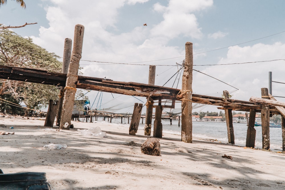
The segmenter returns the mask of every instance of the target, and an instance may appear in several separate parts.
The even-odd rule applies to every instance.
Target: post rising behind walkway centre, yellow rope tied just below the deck
[[[149,66],[148,84],[154,85],[155,68],[156,68],[155,65]],[[150,136],[151,123],[152,123],[153,99],[151,97],[148,97],[145,105],[146,105],[146,113],[145,113],[144,135]]]

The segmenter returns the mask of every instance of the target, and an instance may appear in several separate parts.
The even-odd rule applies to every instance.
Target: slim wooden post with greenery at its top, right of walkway
[[[229,99],[228,91],[223,91],[223,95],[226,99]],[[233,132],[233,114],[231,109],[225,109],[225,118],[227,123],[228,141],[231,144],[235,144],[235,135]]]

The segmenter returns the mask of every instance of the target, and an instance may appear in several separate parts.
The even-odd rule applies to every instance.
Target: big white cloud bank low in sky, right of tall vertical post
[[[285,44],[255,44],[253,46],[230,47],[227,57],[221,58],[218,64],[232,64],[256,62],[266,60],[284,59]],[[284,60],[272,62],[258,62],[235,65],[217,65],[207,68],[195,68],[203,73],[213,76],[239,90],[234,92],[234,99],[249,101],[251,96],[261,96],[260,89],[268,88],[268,72],[272,71],[272,78],[282,80],[285,72]],[[193,90],[195,93],[222,93],[223,90],[234,91],[235,88],[217,81],[201,73],[193,73]],[[273,80],[274,80],[273,79]],[[281,82],[284,82],[281,81]],[[272,87],[273,94],[284,94],[284,88]]]

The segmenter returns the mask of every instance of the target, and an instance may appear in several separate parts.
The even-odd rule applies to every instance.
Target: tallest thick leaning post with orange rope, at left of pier
[[[76,24],[74,30],[73,50],[66,76],[66,85],[64,90],[64,98],[62,103],[62,113],[60,119],[60,129],[69,130],[71,124],[71,115],[74,105],[74,97],[76,93],[76,82],[78,81],[79,61],[82,54],[84,26]]]

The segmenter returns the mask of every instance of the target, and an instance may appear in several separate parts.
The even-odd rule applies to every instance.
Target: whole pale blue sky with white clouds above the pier
[[[167,59],[140,63],[171,65],[156,67],[156,85],[163,85],[177,71],[172,65],[183,61],[187,41],[193,43],[194,69],[239,89],[235,91],[229,85],[194,71],[194,93],[221,97],[223,90],[228,90],[234,95],[233,99],[248,101],[251,96],[260,97],[260,88],[268,87],[268,71],[272,71],[274,81],[285,82],[284,60],[221,65],[285,59],[285,1],[282,0],[97,0],[80,3],[25,0],[25,3],[27,8],[23,9],[15,1],[8,0],[7,5],[0,8],[0,23],[17,26],[37,22],[13,31],[33,38],[34,43],[59,56],[63,54],[64,38],[73,40],[75,24],[82,24],[85,26],[83,60],[129,63]],[[147,26],[143,26],[144,23]],[[282,33],[277,34],[279,32]],[[251,40],[255,41],[248,42]],[[248,43],[241,44],[243,42]],[[239,45],[232,46],[235,44]],[[222,49],[215,50],[219,48]],[[201,52],[206,53],[199,54]],[[213,66],[197,66],[204,64]],[[84,61],[80,66],[86,76],[126,82],[148,81],[148,66]],[[166,86],[173,84],[174,79]],[[283,85],[274,83],[272,94],[285,96],[283,89]],[[97,91],[87,95],[93,103]],[[113,96],[117,97],[116,101],[110,101]],[[134,97],[113,96],[104,93],[102,107],[138,101]],[[145,98],[139,99],[146,102]],[[219,111],[215,107],[202,111],[205,110]]]

